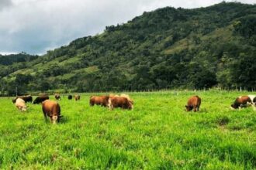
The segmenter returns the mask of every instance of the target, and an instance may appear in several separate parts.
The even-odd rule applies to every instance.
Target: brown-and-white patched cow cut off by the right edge
[[[237,97],[237,99],[234,101],[234,104],[231,104],[231,109],[240,109],[242,107],[247,106],[254,106],[256,107],[256,96],[254,95],[248,95],[248,96],[240,96]]]

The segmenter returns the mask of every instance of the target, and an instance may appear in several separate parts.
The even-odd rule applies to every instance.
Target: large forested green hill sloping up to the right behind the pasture
[[[104,16],[102,16],[104,17]],[[1,90],[256,87],[256,5],[160,8],[26,62],[1,66]]]

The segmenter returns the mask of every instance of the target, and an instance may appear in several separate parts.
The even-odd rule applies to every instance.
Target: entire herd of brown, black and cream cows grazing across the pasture
[[[60,94],[54,95],[56,100],[61,100]],[[72,95],[68,95],[67,99],[71,100],[73,98]],[[75,94],[74,100],[80,100],[80,95]],[[43,116],[45,117],[45,121],[47,122],[47,116],[50,117],[50,121],[53,124],[56,124],[60,121],[61,116],[61,106],[54,100],[49,100],[49,96],[44,94],[39,97],[36,97],[33,100],[31,95],[28,96],[20,96],[12,99],[12,103],[16,105],[19,110],[26,111],[26,102],[30,102],[33,104],[42,104]],[[102,107],[109,107],[109,110],[112,110],[115,107],[120,107],[122,109],[133,109],[133,100],[127,94],[115,95],[109,94],[106,96],[91,96],[89,100],[90,106],[99,105]],[[199,107],[201,104],[201,98],[199,96],[189,97],[187,105],[185,105],[186,111],[199,111]],[[255,95],[247,95],[237,97],[234,101],[234,104],[231,104],[231,109],[240,109],[242,107],[254,107],[256,110],[256,96]]]

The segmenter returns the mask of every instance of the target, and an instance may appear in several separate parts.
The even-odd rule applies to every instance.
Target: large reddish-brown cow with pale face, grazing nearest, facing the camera
[[[56,124],[60,121],[61,116],[61,107],[56,101],[44,100],[42,103],[43,116],[45,122],[47,123],[47,116],[50,117],[50,122]]]

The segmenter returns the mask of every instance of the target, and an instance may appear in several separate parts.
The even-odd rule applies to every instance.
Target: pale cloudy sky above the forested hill
[[[0,54],[42,55],[143,12],[172,6],[199,8],[223,0],[0,0]],[[231,1],[231,0],[230,0]],[[230,2],[226,1],[226,2]],[[256,0],[240,0],[256,4]]]

